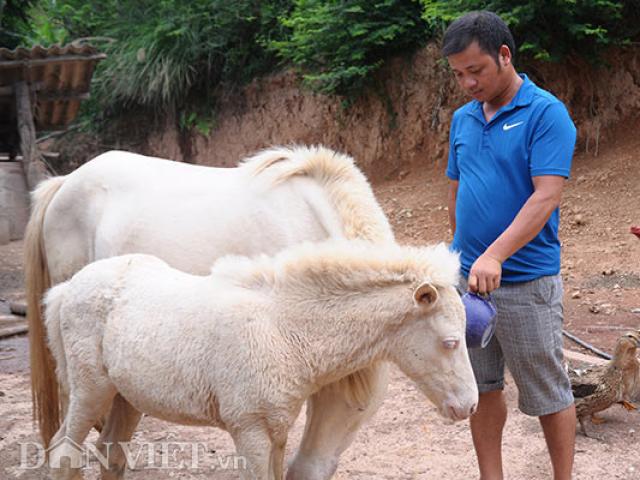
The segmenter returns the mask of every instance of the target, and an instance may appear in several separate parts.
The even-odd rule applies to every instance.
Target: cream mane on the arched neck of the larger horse
[[[277,167],[277,168],[273,168]],[[273,170],[273,184],[296,176],[320,183],[341,220],[345,238],[382,243],[394,240],[389,220],[373,195],[369,181],[348,155],[322,146],[274,147],[242,162],[260,176]]]

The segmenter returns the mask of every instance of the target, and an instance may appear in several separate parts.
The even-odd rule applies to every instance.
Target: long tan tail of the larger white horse
[[[32,194],[31,217],[24,240],[24,269],[27,290],[27,321],[31,363],[33,416],[40,427],[45,447],[60,426],[60,400],[55,361],[47,348],[42,315],[42,297],[51,286],[42,226],[47,207],[64,183],[54,177],[40,183]]]

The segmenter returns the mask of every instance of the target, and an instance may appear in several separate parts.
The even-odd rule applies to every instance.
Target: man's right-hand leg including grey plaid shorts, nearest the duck
[[[518,386],[518,406],[538,417],[555,480],[571,478],[576,432],[571,382],[562,364],[562,280],[559,275],[501,287],[509,309],[500,333],[507,367]]]

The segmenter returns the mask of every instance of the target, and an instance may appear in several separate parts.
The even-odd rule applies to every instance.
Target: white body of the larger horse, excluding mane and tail
[[[54,283],[91,261],[126,253],[205,273],[224,254],[274,253],[334,236],[334,217],[310,179],[272,185],[246,168],[114,151],[67,177],[45,218],[45,248]]]

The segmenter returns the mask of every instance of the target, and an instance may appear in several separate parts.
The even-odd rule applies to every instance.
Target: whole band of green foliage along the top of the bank
[[[85,113],[185,112],[181,128],[207,134],[221,90],[289,64],[348,104],[387,59],[478,9],[507,21],[519,57],[596,59],[640,36],[639,0],[0,0],[0,46],[89,37],[108,58]]]

